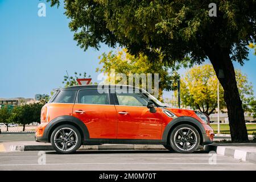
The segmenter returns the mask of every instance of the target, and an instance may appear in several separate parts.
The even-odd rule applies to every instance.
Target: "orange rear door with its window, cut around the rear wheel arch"
[[[85,123],[90,138],[117,138],[117,114],[110,105],[109,91],[82,89],[77,93],[73,116]]]

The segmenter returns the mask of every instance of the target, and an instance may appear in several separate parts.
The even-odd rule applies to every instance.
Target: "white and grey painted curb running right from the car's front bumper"
[[[256,163],[256,152],[229,148],[228,146],[217,146],[214,144],[205,146],[204,150],[208,152],[216,151],[216,154],[230,156],[241,161]]]

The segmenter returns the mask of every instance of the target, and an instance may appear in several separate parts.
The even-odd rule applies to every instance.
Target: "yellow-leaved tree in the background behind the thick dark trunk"
[[[243,109],[249,111],[249,102],[254,98],[253,86],[240,70],[236,69],[235,72]],[[190,106],[205,114],[213,113],[217,107],[217,77],[212,65],[196,66],[185,73],[181,78],[181,101],[184,106]],[[224,90],[220,85],[220,109],[224,107]]]

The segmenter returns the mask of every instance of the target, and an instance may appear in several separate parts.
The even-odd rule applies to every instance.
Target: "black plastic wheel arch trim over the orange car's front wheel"
[[[203,144],[203,135],[205,134],[204,127],[197,119],[192,117],[187,117],[187,116],[174,118],[172,119],[172,121],[168,123],[168,125],[164,128],[163,135],[162,135],[162,139],[164,140],[164,142],[168,144],[169,143],[168,138],[170,137],[172,130],[174,130],[176,126],[183,125],[183,124],[187,124],[195,127],[195,129],[200,134],[200,144]]]

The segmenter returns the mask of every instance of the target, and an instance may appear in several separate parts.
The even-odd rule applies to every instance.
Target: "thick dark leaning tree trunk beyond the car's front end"
[[[210,52],[210,51],[209,51]],[[236,75],[228,48],[217,48],[208,52],[214,71],[224,89],[224,100],[228,109],[230,134],[233,142],[246,142],[248,134],[242,101],[237,88]]]

